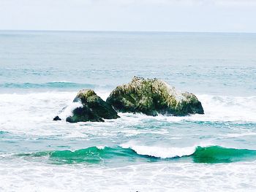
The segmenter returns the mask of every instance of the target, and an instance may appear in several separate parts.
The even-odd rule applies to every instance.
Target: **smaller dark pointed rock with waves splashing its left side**
[[[73,102],[80,102],[82,106],[72,111],[72,116],[66,119],[69,123],[119,118],[116,110],[90,89],[79,91]]]

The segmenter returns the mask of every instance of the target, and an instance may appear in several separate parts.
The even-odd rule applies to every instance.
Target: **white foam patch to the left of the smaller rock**
[[[0,94],[0,130],[41,134],[59,110],[72,103],[75,92]],[[43,128],[45,127],[45,128]],[[42,128],[42,129],[41,129]],[[50,132],[49,132],[50,134]]]

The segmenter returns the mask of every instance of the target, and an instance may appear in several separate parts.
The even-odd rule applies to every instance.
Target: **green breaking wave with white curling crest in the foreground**
[[[16,156],[23,158],[48,158],[51,164],[99,164],[104,161],[191,161],[193,163],[219,164],[238,161],[255,161],[256,150],[227,148],[221,146],[200,147],[194,150],[191,147],[162,149],[159,153],[151,150],[152,147],[144,147],[144,151],[138,147],[88,147],[80,150],[51,150],[36,153],[19,153]],[[172,151],[170,152],[170,149]],[[159,150],[161,150],[159,148]],[[176,151],[176,153],[173,153]],[[159,155],[162,154],[162,155]]]

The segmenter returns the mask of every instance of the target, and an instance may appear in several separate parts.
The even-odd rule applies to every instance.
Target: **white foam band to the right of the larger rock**
[[[247,121],[256,122],[256,96],[211,96],[197,95],[205,114],[184,117],[159,115],[160,120],[180,121]]]

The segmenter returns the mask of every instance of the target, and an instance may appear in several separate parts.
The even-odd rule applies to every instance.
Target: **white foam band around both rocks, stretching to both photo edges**
[[[97,91],[99,96],[106,99],[109,92]],[[59,110],[67,107],[61,113],[61,118],[67,117],[79,103],[72,103],[76,92],[44,92],[44,93],[4,93],[0,94],[0,127],[1,131],[24,130],[33,123],[51,123]],[[190,115],[185,117],[166,117],[159,115],[149,117],[141,114],[120,114],[121,119],[107,120],[106,123],[129,121],[138,123],[141,120],[164,120],[167,122],[189,121],[222,121],[222,122],[256,122],[256,96],[209,96],[198,95],[205,110],[204,115]],[[15,120],[13,120],[15,117]],[[97,123],[95,123],[97,124]],[[28,127],[30,128],[30,126]],[[31,131],[31,129],[29,130]]]

